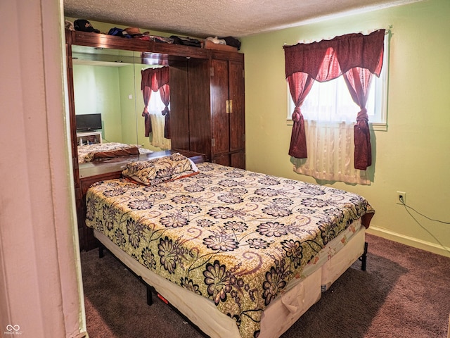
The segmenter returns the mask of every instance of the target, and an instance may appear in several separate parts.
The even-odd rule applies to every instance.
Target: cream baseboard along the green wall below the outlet
[[[413,246],[413,248],[422,249],[425,251],[430,251],[432,253],[437,253],[441,256],[450,257],[450,248],[446,246],[440,246],[435,243],[425,242],[421,239],[414,237],[405,236],[404,234],[397,234],[397,232],[392,232],[380,227],[369,227],[367,230],[368,234],[374,234],[378,237],[383,237],[385,239],[390,239],[394,242],[399,242],[401,244],[406,244]]]

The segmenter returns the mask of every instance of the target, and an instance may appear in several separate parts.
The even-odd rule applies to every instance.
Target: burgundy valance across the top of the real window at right
[[[356,67],[380,76],[384,40],[385,30],[376,30],[369,35],[353,33],[310,44],[283,46],[285,76],[301,72],[324,82]]]

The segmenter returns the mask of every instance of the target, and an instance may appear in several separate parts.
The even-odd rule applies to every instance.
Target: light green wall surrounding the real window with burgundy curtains
[[[374,180],[327,185],[370,201],[376,214],[369,232],[450,256],[450,225],[396,203],[397,191],[406,192],[409,206],[450,221],[449,18],[450,1],[430,0],[242,38],[248,170],[315,182],[295,173],[288,156],[283,44],[392,26],[388,127],[373,134]]]

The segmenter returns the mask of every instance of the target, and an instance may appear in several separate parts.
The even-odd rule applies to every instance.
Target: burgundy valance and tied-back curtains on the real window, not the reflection
[[[384,49],[384,39],[385,30],[377,30],[369,35],[362,35],[361,33],[342,35],[340,37],[335,37],[330,40],[322,40],[320,42],[313,42],[311,44],[296,44],[294,46],[284,46],[285,51],[285,76],[288,79],[289,85],[291,83],[295,84],[294,80],[289,80],[290,77],[295,73],[304,73],[307,75],[302,75],[300,79],[304,76],[311,77],[313,80],[319,82],[325,82],[328,80],[333,80],[340,75],[345,73],[349,74],[349,70],[353,68],[364,68],[364,75],[359,75],[357,77],[366,77],[366,71],[371,74],[380,76],[381,68],[383,66],[383,49]],[[350,72],[354,74],[354,71]],[[352,87],[349,85],[353,80],[350,79],[350,75],[345,77],[348,79],[347,87]],[[353,76],[352,78],[356,78]],[[370,85],[371,76],[368,78],[368,82],[361,84],[361,87],[368,87]],[[306,84],[306,80],[303,80]],[[347,80],[346,80],[347,81]],[[298,84],[301,86],[301,84]],[[312,85],[312,84],[311,84]],[[309,88],[310,89],[310,88]],[[296,89],[291,89],[291,95]],[[354,92],[361,92],[359,89],[353,89]],[[303,96],[306,97],[309,90],[303,89]],[[362,91],[364,92],[364,91]],[[360,96],[356,94],[355,96]],[[352,97],[355,97],[352,94]],[[362,95],[362,100],[357,99],[355,102],[361,107],[361,102],[364,101],[366,94]],[[304,100],[303,97],[303,100]],[[293,100],[296,103],[295,111],[300,115],[300,120],[302,119],[302,114],[300,112],[300,106],[297,106],[297,98],[293,96]],[[355,99],[354,99],[355,100]],[[361,102],[360,102],[361,101]],[[301,104],[300,104],[301,105]],[[361,136],[355,137],[355,156],[362,156],[366,158],[365,161],[361,161],[358,157],[357,161],[355,158],[355,168],[356,162],[359,167],[364,167],[364,163],[371,163],[367,161],[368,157],[371,158],[371,145],[370,137],[368,137],[368,127],[367,132],[364,129],[364,121],[367,122],[367,113],[365,111],[366,102],[364,101],[364,106],[361,107],[361,111],[358,114],[359,120],[356,118],[358,124],[361,127]],[[364,115],[365,114],[365,115]],[[294,118],[295,113],[293,113]],[[367,118],[367,119],[366,119]],[[368,125],[368,123],[367,123]],[[291,156],[297,157],[300,155],[306,158],[306,142],[303,141],[305,138],[304,130],[301,127],[294,128],[293,134],[291,136],[290,152]],[[304,142],[304,144],[303,144]],[[361,143],[362,142],[362,143]],[[361,146],[361,144],[365,144]],[[304,151],[302,149],[304,148]],[[300,149],[296,151],[295,149]],[[356,150],[357,149],[357,150]],[[292,152],[292,154],[291,154]],[[370,164],[369,164],[370,165]],[[356,168],[356,169],[360,169]],[[366,168],[364,168],[366,170]]]

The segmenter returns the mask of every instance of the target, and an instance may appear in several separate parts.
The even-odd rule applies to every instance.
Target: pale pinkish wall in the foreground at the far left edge
[[[77,337],[86,326],[61,2],[0,2],[1,337]]]

